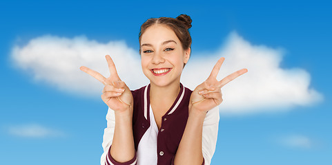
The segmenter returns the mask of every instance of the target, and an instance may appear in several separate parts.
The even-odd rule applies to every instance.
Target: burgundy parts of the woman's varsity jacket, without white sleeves
[[[134,99],[133,111],[133,135],[135,141],[135,151],[141,137],[150,126],[150,85],[141,87],[132,91]],[[188,104],[192,91],[181,84],[179,95],[177,96],[173,105],[168,109],[164,116],[162,116],[162,125],[157,135],[157,164],[170,165],[174,164],[175,154],[182,139],[186,122],[188,120]],[[107,115],[106,115],[107,118]],[[218,111],[219,122],[219,111]],[[213,129],[215,130],[215,129]],[[104,135],[105,139],[105,135]],[[216,137],[215,137],[216,142]],[[104,144],[103,144],[104,145]],[[106,144],[105,144],[106,145]],[[215,144],[214,144],[215,145]],[[111,147],[111,146],[110,146]],[[110,147],[106,153],[105,164],[115,165],[134,165],[137,164],[137,155],[128,162],[119,163],[110,155]],[[213,148],[213,153],[214,153]],[[213,155],[212,153],[212,155]],[[211,155],[211,157],[212,157]],[[205,160],[204,160],[205,161]],[[204,164],[204,161],[202,164]]]

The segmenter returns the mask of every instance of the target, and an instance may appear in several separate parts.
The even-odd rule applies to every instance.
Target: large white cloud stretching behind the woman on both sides
[[[318,91],[309,88],[308,72],[301,68],[280,67],[282,53],[264,45],[251,45],[231,33],[219,51],[209,55],[192,53],[182,74],[182,83],[194,89],[224,56],[226,60],[219,72],[219,80],[244,67],[248,73],[222,88],[224,102],[220,105],[220,112],[223,114],[277,111],[322,100]],[[92,97],[99,97],[103,86],[81,72],[79,67],[84,65],[108,76],[106,54],[113,58],[120,78],[130,89],[148,84],[141,72],[138,50],[128,47],[124,41],[98,43],[84,36],[74,39],[41,36],[12,50],[14,63],[30,72],[36,80],[45,80],[63,91]]]

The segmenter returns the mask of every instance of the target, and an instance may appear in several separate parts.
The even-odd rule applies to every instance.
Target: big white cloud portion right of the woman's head
[[[202,82],[218,58],[225,61],[219,72],[219,80],[239,69],[248,72],[222,89],[224,102],[220,112],[224,114],[277,111],[294,105],[308,106],[322,100],[322,95],[310,89],[310,74],[304,69],[280,67],[282,51],[264,45],[251,45],[241,36],[231,33],[226,45],[212,56],[202,54],[190,61],[184,71],[184,81],[190,87]],[[196,80],[199,78],[199,81]]]

